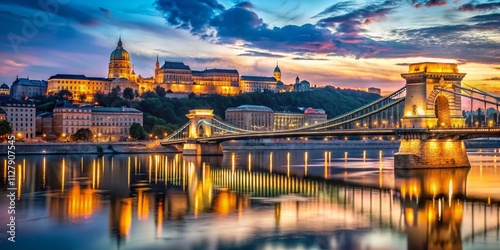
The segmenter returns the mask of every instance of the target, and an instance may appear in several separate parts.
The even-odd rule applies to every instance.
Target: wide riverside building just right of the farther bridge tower
[[[265,106],[241,105],[226,110],[226,121],[246,130],[272,130],[274,112]]]

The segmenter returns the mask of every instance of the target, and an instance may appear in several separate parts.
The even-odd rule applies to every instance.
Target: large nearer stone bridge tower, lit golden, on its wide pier
[[[401,76],[406,80],[402,128],[418,130],[464,126],[461,90],[454,85],[460,86],[465,74],[458,73],[456,64],[410,64],[408,73]],[[462,140],[453,136],[430,138],[430,134],[423,131],[403,134],[399,152],[394,156],[395,168],[470,167]]]

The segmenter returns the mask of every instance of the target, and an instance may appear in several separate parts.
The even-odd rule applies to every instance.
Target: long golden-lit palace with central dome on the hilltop
[[[236,69],[192,70],[183,62],[165,61],[160,66],[156,57],[154,76],[136,75],[130,54],[125,50],[121,38],[116,49],[111,52],[107,77],[87,77],[85,75],[56,74],[49,78],[47,94],[68,90],[73,99],[92,101],[96,93],[107,94],[115,87],[131,88],[136,95],[154,91],[160,86],[173,93],[196,95],[238,95],[246,92],[286,92],[309,91],[307,81],[285,85],[281,81],[281,69],[276,65],[273,76],[240,76]]]

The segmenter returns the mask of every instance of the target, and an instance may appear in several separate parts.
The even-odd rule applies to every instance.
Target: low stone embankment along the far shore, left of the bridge
[[[78,142],[78,143],[22,143],[16,142],[14,151],[17,155],[37,154],[146,154],[177,153],[173,147],[161,146],[159,141],[143,142]],[[1,144],[2,155],[7,154],[8,145]]]

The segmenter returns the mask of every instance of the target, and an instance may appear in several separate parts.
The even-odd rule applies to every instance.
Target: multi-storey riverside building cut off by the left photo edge
[[[0,95],[0,109],[5,111],[5,120],[17,139],[35,138],[35,104]]]

